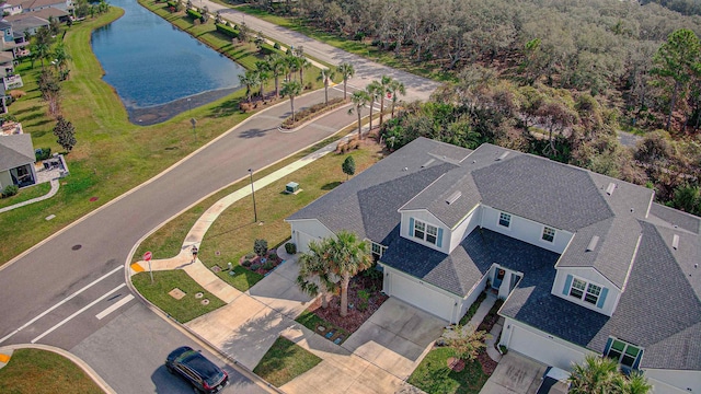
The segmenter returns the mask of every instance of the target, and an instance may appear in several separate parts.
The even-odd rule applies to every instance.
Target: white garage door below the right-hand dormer
[[[564,370],[570,370],[572,361],[578,362],[584,358],[583,352],[551,340],[544,333],[539,335],[515,324],[513,327],[509,350]]]

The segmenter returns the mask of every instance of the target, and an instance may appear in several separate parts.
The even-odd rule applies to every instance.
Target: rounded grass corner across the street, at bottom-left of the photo
[[[0,393],[104,393],[69,359],[53,351],[18,349],[0,369]]]

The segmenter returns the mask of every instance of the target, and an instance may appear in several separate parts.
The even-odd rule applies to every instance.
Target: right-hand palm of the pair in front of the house
[[[359,241],[356,234],[342,230],[329,242],[327,256],[333,273],[341,277],[340,314],[345,317],[348,314],[350,278],[372,266],[372,255],[368,252],[365,241]]]

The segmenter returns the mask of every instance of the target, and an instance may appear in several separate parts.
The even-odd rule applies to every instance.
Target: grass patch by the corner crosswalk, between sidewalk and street
[[[131,282],[141,296],[180,323],[187,323],[226,304],[216,296],[203,289],[181,269],[153,271],[152,285],[148,271],[139,273],[131,277]],[[171,297],[169,292],[174,288],[181,289],[185,297],[180,300]],[[195,294],[197,292],[202,292],[204,294],[203,298],[196,298]],[[203,305],[202,300],[204,299],[209,300],[209,304]]]

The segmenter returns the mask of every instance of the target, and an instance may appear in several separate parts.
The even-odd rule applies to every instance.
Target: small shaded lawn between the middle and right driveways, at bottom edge
[[[452,371],[447,361],[453,355],[448,347],[430,350],[409,378],[409,383],[428,394],[478,394],[490,376],[482,372],[476,360],[467,362],[460,372]]]

